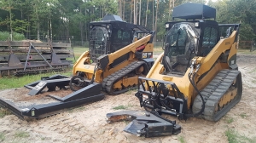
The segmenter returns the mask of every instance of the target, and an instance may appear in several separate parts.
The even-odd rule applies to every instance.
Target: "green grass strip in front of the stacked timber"
[[[38,75],[27,75],[23,77],[2,77],[0,82],[0,89],[14,89],[14,88],[20,88],[26,85],[27,83],[32,83],[37,80],[40,80],[41,77],[49,77],[54,74],[59,74],[59,72],[49,72],[49,73],[43,73]],[[72,75],[72,72],[63,72],[61,75],[70,76]]]

